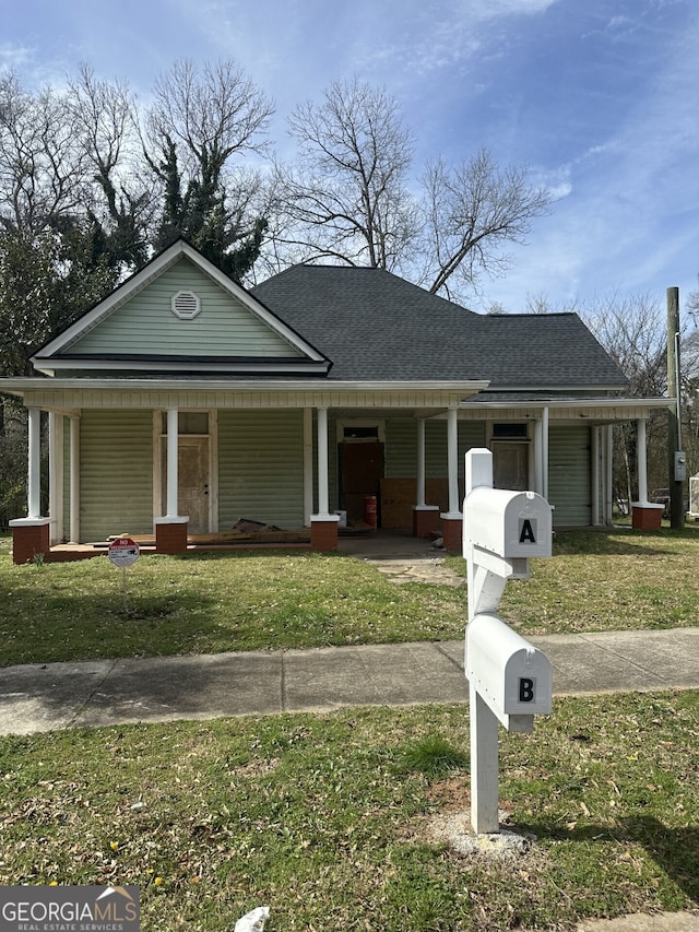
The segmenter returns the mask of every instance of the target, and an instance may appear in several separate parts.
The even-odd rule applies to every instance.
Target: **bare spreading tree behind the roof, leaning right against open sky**
[[[433,293],[452,296],[473,288],[478,278],[502,275],[511,266],[503,251],[523,244],[531,221],[548,211],[550,192],[529,181],[525,168],[500,169],[490,152],[449,166],[443,158],[427,165],[425,190],[425,281]]]

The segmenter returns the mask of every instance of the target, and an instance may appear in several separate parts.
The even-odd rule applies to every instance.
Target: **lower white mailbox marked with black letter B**
[[[552,711],[550,661],[497,615],[469,623],[466,676],[508,731],[531,731],[532,716]]]

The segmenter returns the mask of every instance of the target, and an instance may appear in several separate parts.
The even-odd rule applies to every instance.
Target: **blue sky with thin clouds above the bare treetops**
[[[554,308],[699,287],[696,0],[0,0],[0,68],[60,84],[86,61],[146,101],[176,59],[233,57],[285,118],[331,81],[384,85],[416,168],[488,148],[556,192],[472,302]]]

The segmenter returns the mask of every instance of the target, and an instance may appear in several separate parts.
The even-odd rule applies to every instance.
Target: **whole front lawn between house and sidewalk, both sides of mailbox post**
[[[694,626],[697,565],[695,524],[559,533],[552,559],[508,582],[501,614],[524,634]],[[0,664],[449,640],[466,615],[465,587],[396,586],[340,554],[144,555],[126,578],[125,600],[104,556],[13,566],[0,541]]]

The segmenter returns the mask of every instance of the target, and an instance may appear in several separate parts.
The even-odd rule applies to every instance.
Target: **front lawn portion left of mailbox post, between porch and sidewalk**
[[[43,566],[0,556],[1,663],[400,642],[463,635],[465,593],[395,586],[317,553],[106,557]]]

